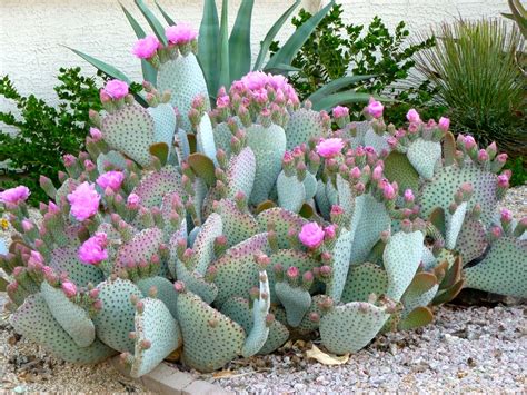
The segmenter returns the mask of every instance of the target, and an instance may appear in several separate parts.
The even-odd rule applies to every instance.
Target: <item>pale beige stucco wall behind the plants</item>
[[[121,2],[138,18],[140,13],[132,0]],[[147,1],[153,4],[153,0]],[[201,1],[159,0],[177,20],[187,20],[196,28],[201,19]],[[346,19],[367,23],[376,14],[390,27],[406,20],[412,32],[424,31],[430,24],[457,16],[477,18],[498,16],[507,10],[506,0],[340,0]],[[220,3],[217,0],[217,3]],[[240,0],[229,2],[230,26]],[[292,0],[256,0],[252,41],[257,51],[275,20]],[[304,1],[318,7],[320,1]],[[324,1],[322,1],[324,3]],[[141,19],[142,20],[142,19]],[[282,31],[282,38],[292,29]],[[130,55],[135,36],[118,0],[0,0],[0,75],[8,73],[22,93],[33,92],[51,102],[54,76],[61,66],[88,63],[62,46],[70,46],[113,63],[135,79],[140,78],[137,59]],[[0,99],[0,108],[6,108]]]

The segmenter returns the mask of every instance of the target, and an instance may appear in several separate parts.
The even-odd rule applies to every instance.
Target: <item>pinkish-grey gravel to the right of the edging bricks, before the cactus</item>
[[[208,379],[236,393],[526,392],[527,306],[443,307],[434,325],[378,337],[344,365],[306,361],[309,344],[231,364]],[[245,365],[245,366],[243,366]],[[225,378],[219,378],[225,376]]]

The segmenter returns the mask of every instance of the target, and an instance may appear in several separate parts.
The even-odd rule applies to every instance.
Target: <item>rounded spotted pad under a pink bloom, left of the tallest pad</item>
[[[150,162],[153,141],[153,118],[139,105],[125,106],[102,119],[102,138],[118,151],[141,166]]]

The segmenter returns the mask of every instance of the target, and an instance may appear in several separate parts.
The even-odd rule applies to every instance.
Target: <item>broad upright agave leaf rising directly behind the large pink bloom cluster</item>
[[[250,24],[255,0],[242,0],[229,39],[230,80],[237,80],[250,70]]]

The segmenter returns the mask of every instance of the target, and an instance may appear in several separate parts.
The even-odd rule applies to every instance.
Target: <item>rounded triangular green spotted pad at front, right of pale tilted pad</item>
[[[241,353],[246,338],[243,328],[192,293],[179,295],[178,317],[186,365],[200,372],[211,372]]]

